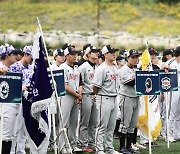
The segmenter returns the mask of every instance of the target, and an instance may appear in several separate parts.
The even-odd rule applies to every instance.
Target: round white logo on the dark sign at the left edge
[[[0,97],[6,99],[9,95],[9,84],[6,81],[0,83]]]

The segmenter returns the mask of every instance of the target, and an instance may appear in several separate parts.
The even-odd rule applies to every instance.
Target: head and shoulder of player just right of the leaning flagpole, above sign
[[[58,70],[59,66],[64,63],[64,51],[62,49],[56,49],[53,52],[54,63],[51,65],[51,70]]]

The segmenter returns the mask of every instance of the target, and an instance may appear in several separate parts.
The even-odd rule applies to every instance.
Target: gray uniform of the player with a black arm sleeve
[[[139,114],[139,97],[136,95],[135,86],[127,83],[135,78],[135,69],[125,64],[120,70],[120,109],[121,124],[119,132],[134,133]]]

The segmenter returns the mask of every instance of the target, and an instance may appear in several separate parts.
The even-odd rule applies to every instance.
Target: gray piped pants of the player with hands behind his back
[[[98,126],[96,130],[96,148],[97,153],[104,151],[104,146],[107,154],[112,154],[113,133],[116,124],[117,105],[116,97],[97,96],[97,111],[98,111]]]

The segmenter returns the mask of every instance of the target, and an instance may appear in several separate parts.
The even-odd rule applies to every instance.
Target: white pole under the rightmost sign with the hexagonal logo
[[[166,139],[167,139],[167,148],[169,148],[169,120],[168,120],[168,113],[169,113],[169,106],[168,106],[168,92],[165,92],[165,104],[166,104]]]

